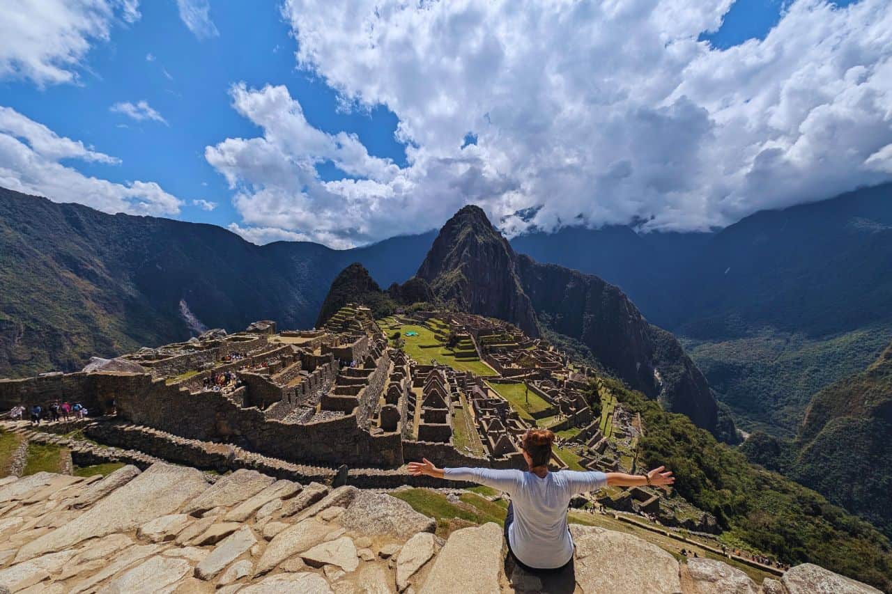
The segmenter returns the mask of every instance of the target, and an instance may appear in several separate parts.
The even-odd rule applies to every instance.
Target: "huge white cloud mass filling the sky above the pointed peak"
[[[344,104],[396,113],[408,167],[310,127],[284,87],[237,87],[262,136],[206,157],[246,224],[329,244],[466,202],[508,233],[531,207],[544,228],[702,229],[889,179],[892,4],[797,0],[764,40],[698,42],[730,4],[288,0],[299,64]],[[349,175],[322,181],[324,161]]]

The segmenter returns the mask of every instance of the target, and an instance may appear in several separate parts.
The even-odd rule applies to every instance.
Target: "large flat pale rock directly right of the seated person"
[[[579,524],[571,524],[570,533],[576,544],[576,583],[585,594],[681,592],[678,561],[657,545]]]

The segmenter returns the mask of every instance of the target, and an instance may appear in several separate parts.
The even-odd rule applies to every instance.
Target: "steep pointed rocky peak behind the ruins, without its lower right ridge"
[[[466,206],[440,230],[417,275],[458,309],[508,320],[530,336],[539,326],[508,241],[479,207]]]

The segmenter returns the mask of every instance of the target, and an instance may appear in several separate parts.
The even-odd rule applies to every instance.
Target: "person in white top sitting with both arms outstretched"
[[[549,471],[555,434],[531,429],[524,434],[521,451],[528,469],[437,468],[427,458],[410,462],[409,473],[453,481],[468,481],[505,491],[511,497],[505,518],[508,552],[516,565],[530,572],[559,572],[573,562],[573,538],[567,525],[567,508],[574,495],[617,487],[662,486],[674,483],[665,466],[648,474]]]

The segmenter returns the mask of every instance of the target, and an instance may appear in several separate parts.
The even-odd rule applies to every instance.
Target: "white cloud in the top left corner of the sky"
[[[0,18],[0,78],[44,87],[76,81],[95,42],[108,41],[116,19],[140,18],[137,0],[5,2]]]

